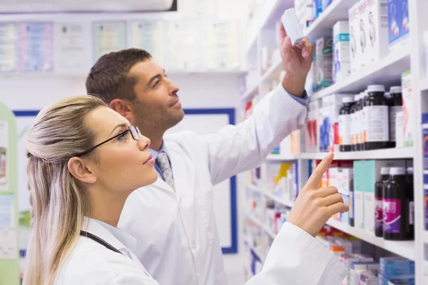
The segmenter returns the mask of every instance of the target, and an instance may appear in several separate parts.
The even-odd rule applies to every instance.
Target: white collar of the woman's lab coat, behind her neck
[[[131,252],[136,250],[136,239],[130,234],[123,232],[117,227],[113,227],[105,222],[98,221],[98,219],[91,219],[83,217],[83,224],[81,229],[85,232],[95,234],[97,237],[105,240],[108,244],[119,251],[129,249]]]

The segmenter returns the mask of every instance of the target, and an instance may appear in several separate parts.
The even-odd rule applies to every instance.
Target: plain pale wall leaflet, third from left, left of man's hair
[[[81,23],[55,23],[55,69],[56,71],[87,71],[90,68],[91,53]]]

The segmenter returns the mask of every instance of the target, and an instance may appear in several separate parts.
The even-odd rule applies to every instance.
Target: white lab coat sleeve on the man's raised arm
[[[216,184],[258,167],[281,140],[302,127],[306,113],[305,105],[293,99],[280,84],[260,100],[247,120],[201,136],[208,147],[211,182]]]

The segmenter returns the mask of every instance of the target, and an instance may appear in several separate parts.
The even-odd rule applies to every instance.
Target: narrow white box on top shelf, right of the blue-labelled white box
[[[362,63],[365,60],[361,56],[361,49],[365,48],[366,42],[360,38],[360,14],[358,13],[360,2],[357,2],[348,11],[349,16],[349,33],[350,33],[350,69],[351,73],[356,73],[362,68]],[[362,46],[363,44],[363,46]]]

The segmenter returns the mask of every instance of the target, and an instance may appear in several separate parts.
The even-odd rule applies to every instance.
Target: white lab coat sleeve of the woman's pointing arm
[[[285,222],[259,274],[245,285],[339,285],[345,264],[300,227]]]

